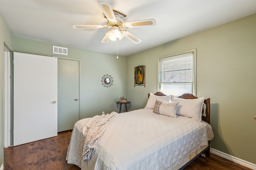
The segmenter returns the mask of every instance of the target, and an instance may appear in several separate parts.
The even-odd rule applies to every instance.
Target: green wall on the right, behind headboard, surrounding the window
[[[212,148],[256,164],[255,21],[256,14],[127,57],[131,109],[145,107],[157,91],[157,57],[196,49],[196,95],[211,100]],[[146,66],[146,87],[134,87],[138,65]]]

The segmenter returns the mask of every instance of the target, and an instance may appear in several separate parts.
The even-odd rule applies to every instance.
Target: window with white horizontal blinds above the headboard
[[[196,95],[196,49],[158,58],[158,81],[164,94]]]

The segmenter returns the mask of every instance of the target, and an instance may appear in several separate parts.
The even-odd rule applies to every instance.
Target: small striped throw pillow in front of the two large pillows
[[[177,117],[176,116],[176,110],[178,107],[178,104],[180,102],[163,102],[160,100],[156,100],[156,104],[154,106],[154,113],[160,114],[160,115],[166,115],[170,117]]]

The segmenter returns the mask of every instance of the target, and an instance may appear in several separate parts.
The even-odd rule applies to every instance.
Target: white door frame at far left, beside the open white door
[[[11,146],[11,59],[10,50],[4,45],[4,147]]]

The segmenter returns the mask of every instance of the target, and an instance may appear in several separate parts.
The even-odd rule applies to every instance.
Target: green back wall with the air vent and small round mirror
[[[64,46],[21,37],[14,37],[14,44],[14,51],[19,53],[80,59],[80,119],[102,114],[102,111],[118,111],[116,101],[126,95],[126,57],[116,59],[116,55],[72,47],[68,47],[68,56],[56,55],[52,53],[52,46]],[[104,74],[113,77],[109,88],[101,84]]]

